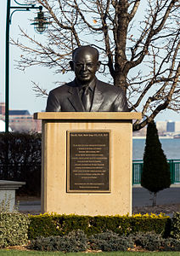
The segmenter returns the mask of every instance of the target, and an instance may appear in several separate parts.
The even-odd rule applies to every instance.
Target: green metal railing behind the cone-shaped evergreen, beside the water
[[[170,165],[171,183],[180,183],[180,160],[167,160]],[[141,183],[143,160],[132,161],[132,185]]]

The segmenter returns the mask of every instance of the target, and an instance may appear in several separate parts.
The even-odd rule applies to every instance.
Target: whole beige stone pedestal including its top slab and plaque
[[[35,113],[34,117],[42,119],[42,213],[91,216],[132,213],[132,119],[141,119],[141,113]],[[70,136],[76,137],[76,143],[73,140],[70,143]],[[93,137],[90,146],[87,143],[91,140],[84,143],[85,139],[81,144],[81,137],[87,136]],[[108,136],[109,140],[101,138],[99,143],[97,139],[95,145],[96,136]],[[72,154],[73,147],[77,154]],[[103,147],[108,148],[107,152],[102,153]],[[92,162],[88,156],[92,159],[93,153],[97,159],[106,159],[106,164],[102,160],[94,161],[97,165],[88,163],[88,173],[83,176],[85,159]],[[104,177],[100,170],[106,173],[104,180],[108,182],[102,188],[99,181],[94,182],[99,175]],[[84,183],[70,180],[73,173],[74,177],[81,176]],[[73,183],[71,189],[70,183]]]

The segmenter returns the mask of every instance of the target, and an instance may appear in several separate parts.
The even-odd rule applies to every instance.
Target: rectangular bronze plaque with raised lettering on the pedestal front
[[[110,192],[110,131],[68,131],[67,192]]]

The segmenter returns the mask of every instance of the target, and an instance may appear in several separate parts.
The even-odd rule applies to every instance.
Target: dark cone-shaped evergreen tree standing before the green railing
[[[156,205],[157,192],[171,185],[170,167],[161,148],[154,121],[147,127],[141,185],[153,193],[153,207]]]

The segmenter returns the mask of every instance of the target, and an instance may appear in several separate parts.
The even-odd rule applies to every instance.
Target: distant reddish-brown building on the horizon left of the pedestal
[[[4,103],[0,103],[0,119],[5,120]],[[9,110],[9,126],[12,131],[42,131],[41,120],[33,119],[28,110]]]

